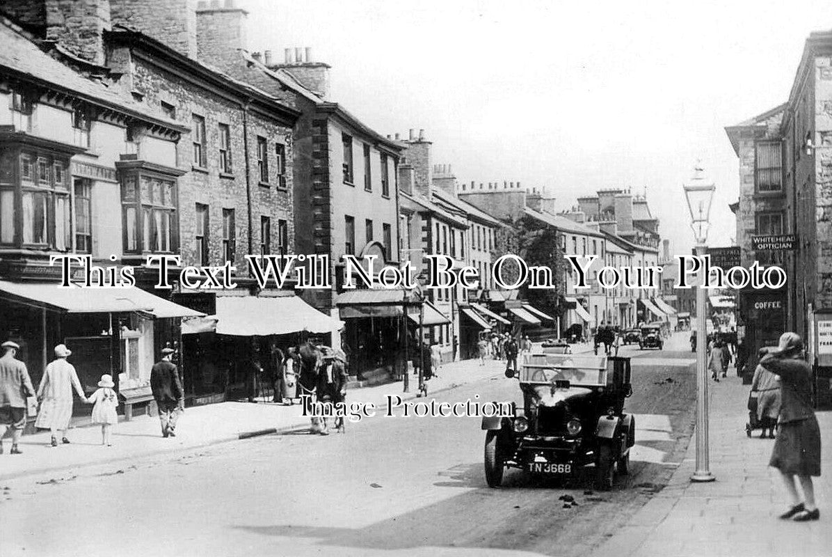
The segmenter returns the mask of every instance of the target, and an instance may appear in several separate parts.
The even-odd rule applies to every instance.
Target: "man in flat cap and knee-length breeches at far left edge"
[[[26,399],[35,395],[35,388],[32,386],[32,379],[26,364],[17,360],[17,351],[20,346],[16,342],[6,341],[0,345],[2,357],[0,357],[0,455],[2,455],[2,440],[12,434],[12,455],[21,455],[22,450],[17,448],[17,442],[26,426]]]

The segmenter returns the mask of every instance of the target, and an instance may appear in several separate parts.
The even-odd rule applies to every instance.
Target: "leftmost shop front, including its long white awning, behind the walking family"
[[[121,401],[150,399],[150,372],[180,317],[201,314],[136,287],[59,288],[56,282],[0,281],[0,334],[21,346],[18,357],[37,387],[52,349],[72,351],[84,392],[112,375]],[[88,415],[78,400],[73,415]]]

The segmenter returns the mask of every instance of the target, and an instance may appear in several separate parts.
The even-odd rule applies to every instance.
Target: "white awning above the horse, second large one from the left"
[[[233,336],[329,333],[344,321],[321,313],[298,296],[217,296],[216,332]]]

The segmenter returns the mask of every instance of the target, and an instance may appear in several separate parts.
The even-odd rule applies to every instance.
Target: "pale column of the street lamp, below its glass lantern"
[[[701,261],[705,255],[706,246],[697,242],[696,256]],[[703,284],[705,271],[702,273],[703,282],[696,286],[696,471],[691,475],[691,481],[716,480],[716,476],[711,474],[708,455],[707,304]]]

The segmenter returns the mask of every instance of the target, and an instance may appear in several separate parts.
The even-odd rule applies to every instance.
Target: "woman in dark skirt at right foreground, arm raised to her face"
[[[815,506],[812,476],[820,475],[820,428],[812,408],[811,368],[803,360],[803,340],[796,333],[783,333],[777,351],[763,356],[760,366],[780,375],[780,417],[769,462],[780,470],[791,499],[790,509],[780,518],[818,520],[820,510]],[[803,490],[802,503],[795,476]]]

